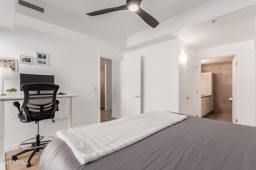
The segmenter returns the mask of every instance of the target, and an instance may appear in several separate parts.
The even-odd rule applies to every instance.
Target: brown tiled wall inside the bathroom
[[[232,61],[223,63],[203,64],[201,72],[213,72],[214,113],[232,114]]]

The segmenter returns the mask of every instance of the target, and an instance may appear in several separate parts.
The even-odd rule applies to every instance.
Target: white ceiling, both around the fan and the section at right
[[[126,43],[126,38],[135,33],[145,29],[154,31],[154,28],[147,25],[137,14],[128,10],[110,12],[99,16],[85,15],[95,10],[124,5],[125,0],[26,1],[44,7],[46,12],[50,9],[56,10],[74,18],[73,23],[66,23],[66,28],[72,28],[74,31],[113,43],[116,47],[124,48],[122,42]],[[161,24],[163,21],[210,3],[210,1],[214,2],[214,0],[142,0],[140,7]],[[253,5],[218,18],[212,18],[212,20],[216,20],[214,24],[211,23],[212,20],[208,20],[169,35],[178,37],[199,50],[249,41],[255,38],[255,15],[256,5]],[[66,20],[68,21],[68,19]],[[57,22],[60,21],[55,21],[55,23]]]

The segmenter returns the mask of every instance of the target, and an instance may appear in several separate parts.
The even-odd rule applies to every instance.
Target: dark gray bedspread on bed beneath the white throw
[[[188,116],[85,165],[56,138],[43,150],[40,170],[256,170],[256,127]]]

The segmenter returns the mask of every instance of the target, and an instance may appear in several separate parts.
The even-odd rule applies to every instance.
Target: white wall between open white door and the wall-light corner
[[[126,53],[142,56],[142,112],[179,111],[179,40],[174,39]]]

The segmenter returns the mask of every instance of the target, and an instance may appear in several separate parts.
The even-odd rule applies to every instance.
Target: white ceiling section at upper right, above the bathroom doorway
[[[256,5],[253,5],[170,35],[182,39],[198,50],[250,41],[255,38],[255,15]]]

